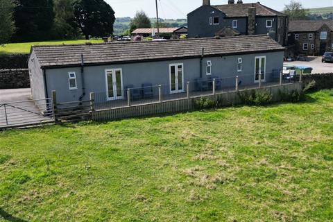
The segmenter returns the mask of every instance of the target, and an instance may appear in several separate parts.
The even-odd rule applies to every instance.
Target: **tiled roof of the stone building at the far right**
[[[333,31],[333,20],[297,20],[289,22],[290,32],[316,32],[326,24]]]

